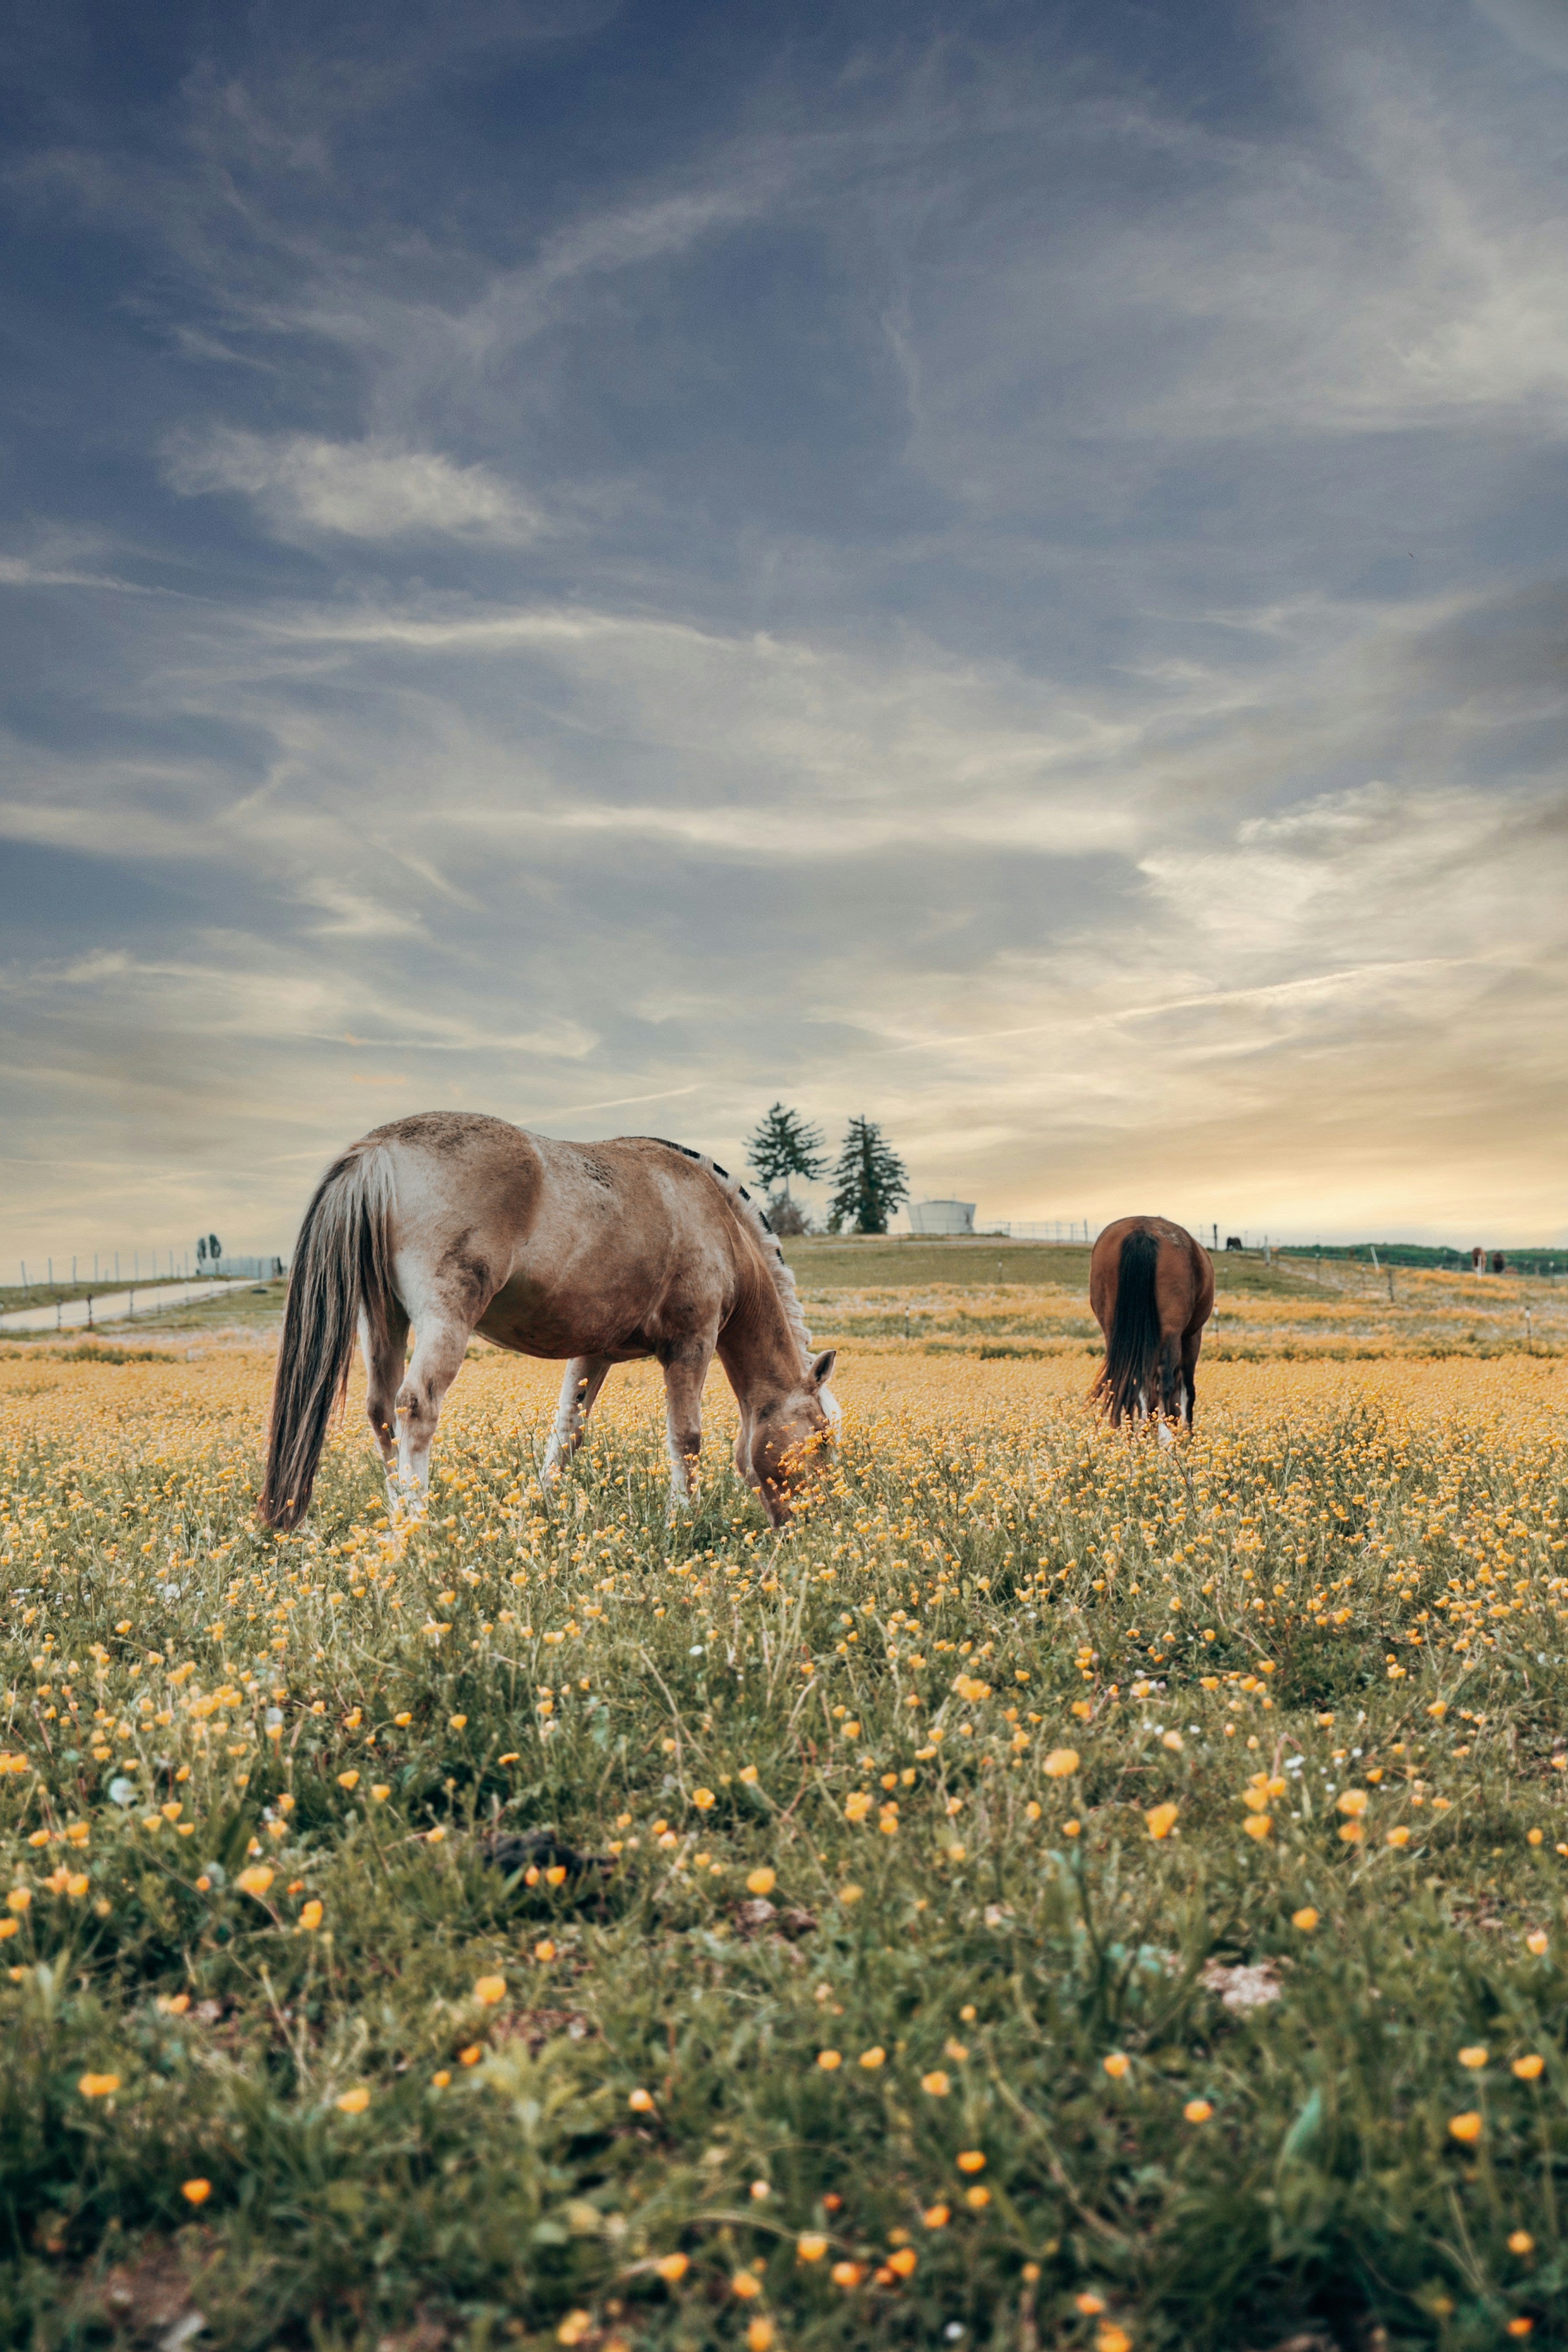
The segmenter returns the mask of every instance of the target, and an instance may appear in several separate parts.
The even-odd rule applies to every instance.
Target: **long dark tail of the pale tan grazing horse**
[[[386,1152],[346,1152],[327,1169],[294,1244],[282,1319],[261,1517],[299,1526],[310,1508],[331,1409],[348,1385],[360,1315],[386,1334],[393,1298],[393,1171]]]

